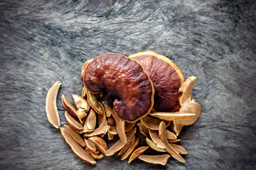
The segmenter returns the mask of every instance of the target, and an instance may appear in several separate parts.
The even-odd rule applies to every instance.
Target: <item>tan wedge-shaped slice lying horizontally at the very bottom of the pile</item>
[[[166,165],[170,155],[139,155],[138,158],[147,163]]]

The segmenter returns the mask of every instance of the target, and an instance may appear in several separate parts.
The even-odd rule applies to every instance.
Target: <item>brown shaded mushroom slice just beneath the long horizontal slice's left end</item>
[[[161,120],[161,119],[154,119],[151,117],[144,117],[143,119],[141,119],[141,123],[148,129],[151,130],[159,130],[159,124],[164,121],[166,124],[166,127],[169,126],[171,124],[170,121],[168,120]]]

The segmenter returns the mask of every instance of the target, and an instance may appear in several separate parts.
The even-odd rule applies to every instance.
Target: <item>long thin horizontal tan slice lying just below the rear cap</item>
[[[153,112],[151,116],[158,117],[162,120],[181,120],[195,116],[194,113],[181,113],[181,112]]]

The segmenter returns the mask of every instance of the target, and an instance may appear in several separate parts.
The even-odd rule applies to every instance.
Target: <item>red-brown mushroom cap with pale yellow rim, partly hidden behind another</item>
[[[172,60],[151,51],[138,52],[129,57],[143,65],[153,82],[154,109],[159,112],[177,110],[179,108],[178,91],[184,82],[184,77]]]

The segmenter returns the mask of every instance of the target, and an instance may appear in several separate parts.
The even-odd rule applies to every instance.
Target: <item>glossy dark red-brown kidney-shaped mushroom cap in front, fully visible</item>
[[[96,57],[85,67],[83,81],[90,92],[103,92],[102,101],[126,122],[136,122],[153,108],[152,81],[140,63],[125,55]]]

